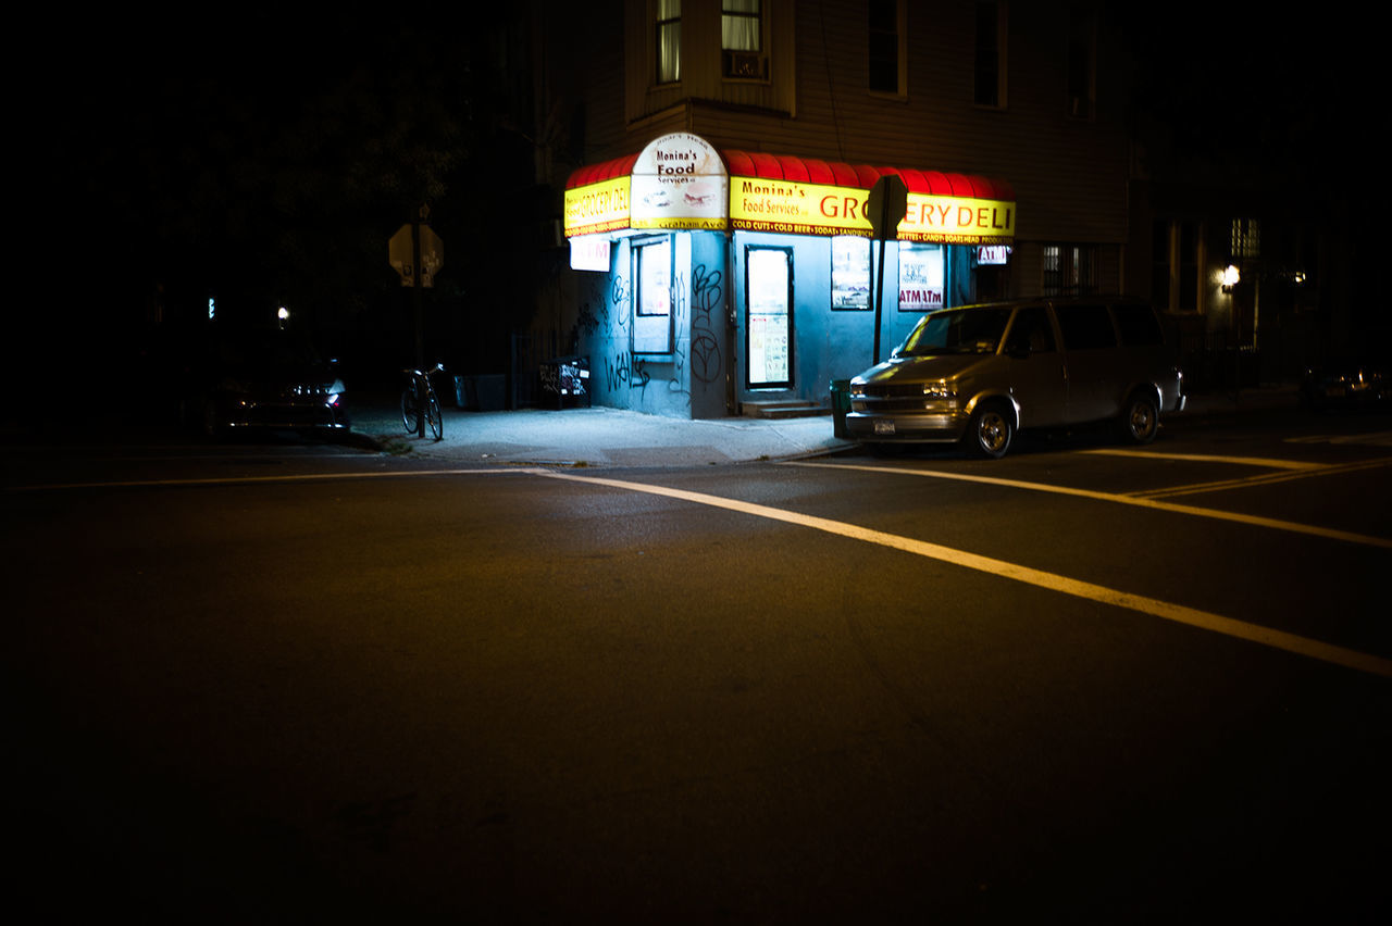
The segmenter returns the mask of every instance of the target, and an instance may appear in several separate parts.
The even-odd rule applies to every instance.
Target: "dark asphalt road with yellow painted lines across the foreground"
[[[46,919],[1381,922],[1388,420],[689,470],[11,448]]]

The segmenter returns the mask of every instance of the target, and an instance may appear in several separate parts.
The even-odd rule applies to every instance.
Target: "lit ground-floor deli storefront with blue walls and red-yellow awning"
[[[898,174],[908,209],[884,245],[866,203]],[[885,359],[928,310],[1004,271],[1015,195],[1001,181],[738,150],[690,133],[575,171],[579,353],[597,405],[671,417],[752,403],[830,406],[832,380]],[[990,289],[990,286],[986,286]]]

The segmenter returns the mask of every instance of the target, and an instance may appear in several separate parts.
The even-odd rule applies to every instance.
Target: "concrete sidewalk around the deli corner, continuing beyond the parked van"
[[[718,466],[852,449],[832,434],[831,414],[807,419],[668,419],[622,409],[465,412],[444,407],[444,438],[405,434],[395,396],[354,396],[352,430],[387,453],[477,466]],[[356,399],[356,400],[354,400]],[[1295,387],[1196,395],[1183,419],[1242,414],[1299,405]],[[1168,416],[1175,419],[1176,416]]]

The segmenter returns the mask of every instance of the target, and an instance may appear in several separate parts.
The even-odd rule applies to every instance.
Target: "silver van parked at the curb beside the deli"
[[[1001,457],[1020,428],[1115,420],[1155,437],[1185,375],[1146,303],[1031,299],[924,316],[889,360],[851,381],[846,430],[877,444],[963,441]]]

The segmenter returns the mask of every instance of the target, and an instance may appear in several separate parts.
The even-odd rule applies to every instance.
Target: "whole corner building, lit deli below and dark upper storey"
[[[827,407],[928,309],[1122,291],[1125,70],[1091,6],[612,0],[551,25],[578,163],[546,165],[571,257],[539,317],[596,403]],[[877,229],[889,177],[905,211]]]

